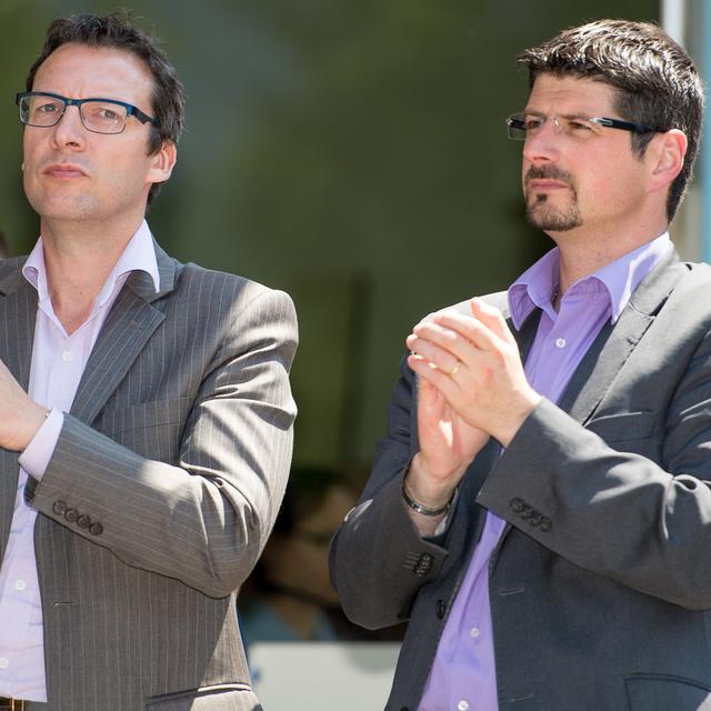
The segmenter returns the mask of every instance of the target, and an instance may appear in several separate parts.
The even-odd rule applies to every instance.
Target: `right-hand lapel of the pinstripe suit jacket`
[[[164,314],[152,302],[172,291],[176,262],[154,244],[160,291],[142,271],[131,273],[119,293],[84,369],[71,414],[91,423],[123,380],[148,339],[162,323]]]

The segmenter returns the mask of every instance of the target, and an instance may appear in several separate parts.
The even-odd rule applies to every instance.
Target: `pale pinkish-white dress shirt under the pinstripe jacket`
[[[97,337],[130,272],[148,272],[159,290],[153,239],[143,222],[99,292],[89,318],[68,336],[52,309],[42,238],[22,273],[37,289],[38,311],[30,369],[30,397],[51,413],[19,458],[20,478],[10,538],[0,568],[0,695],[47,701],[42,607],[34,558],[37,511],[24,501],[28,474],[41,479],[74,399]]]

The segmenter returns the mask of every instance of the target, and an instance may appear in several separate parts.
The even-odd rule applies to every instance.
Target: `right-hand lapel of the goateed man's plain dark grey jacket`
[[[560,408],[585,423],[688,268],[671,250],[640,282],[615,324],[607,323],[573,373]]]

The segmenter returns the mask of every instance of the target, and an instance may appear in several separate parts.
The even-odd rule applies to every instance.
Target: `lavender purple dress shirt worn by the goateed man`
[[[640,281],[670,248],[669,233],[628,252],[575,282],[557,313],[559,252],[552,249],[509,289],[513,326],[521,328],[541,309],[535,339],[525,361],[533,389],[558,402],[580,361],[608,322],[614,323]],[[481,540],[452,605],[439,642],[419,711],[498,711],[489,560],[505,522],[488,513]]]

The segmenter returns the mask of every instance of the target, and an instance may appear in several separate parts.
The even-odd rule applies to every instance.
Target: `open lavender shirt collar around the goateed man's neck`
[[[640,281],[671,247],[669,232],[623,254],[597,272],[580,279],[570,287],[567,296],[607,291],[614,323],[627,306]],[[527,269],[509,288],[509,310],[513,326],[521,328],[537,307],[554,318],[553,294],[560,281],[560,252],[558,247],[547,252]]]

